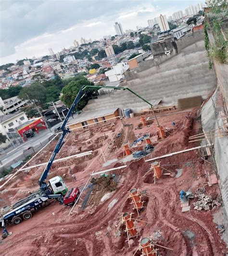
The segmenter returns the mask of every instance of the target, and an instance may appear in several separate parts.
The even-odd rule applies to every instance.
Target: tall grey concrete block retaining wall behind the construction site
[[[203,41],[182,49],[181,53],[159,66],[142,71],[139,67],[137,72],[133,70],[130,73],[134,79],[132,76],[130,79],[126,76],[129,88],[146,100],[161,99],[164,105],[177,104],[178,99],[195,96],[202,96],[204,100],[213,92],[216,85],[215,72],[208,69]],[[111,95],[90,100],[85,110],[113,107],[130,108],[137,113],[148,107],[148,104],[128,91],[114,91]]]

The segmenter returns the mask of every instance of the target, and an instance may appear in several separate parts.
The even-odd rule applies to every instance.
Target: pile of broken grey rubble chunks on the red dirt
[[[220,199],[212,199],[210,195],[205,195],[204,193],[195,195],[195,197],[198,198],[198,201],[194,202],[193,205],[197,211],[207,211],[221,205]]]

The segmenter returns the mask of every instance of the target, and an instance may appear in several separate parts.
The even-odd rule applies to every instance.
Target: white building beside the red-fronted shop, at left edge
[[[7,137],[5,143],[1,143],[0,147],[4,148],[11,144],[19,135],[16,133],[16,128],[28,121],[24,112],[7,114],[0,116],[0,133]]]

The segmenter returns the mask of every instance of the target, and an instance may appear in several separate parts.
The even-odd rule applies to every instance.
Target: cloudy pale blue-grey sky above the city
[[[0,0],[0,64],[49,55],[74,46],[81,37],[99,40],[124,30],[147,27],[199,0]]]

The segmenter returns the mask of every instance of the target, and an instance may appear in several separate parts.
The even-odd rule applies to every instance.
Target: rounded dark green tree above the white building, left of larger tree
[[[38,83],[31,84],[20,91],[19,98],[29,100],[36,106],[42,105],[46,102],[46,88]]]

